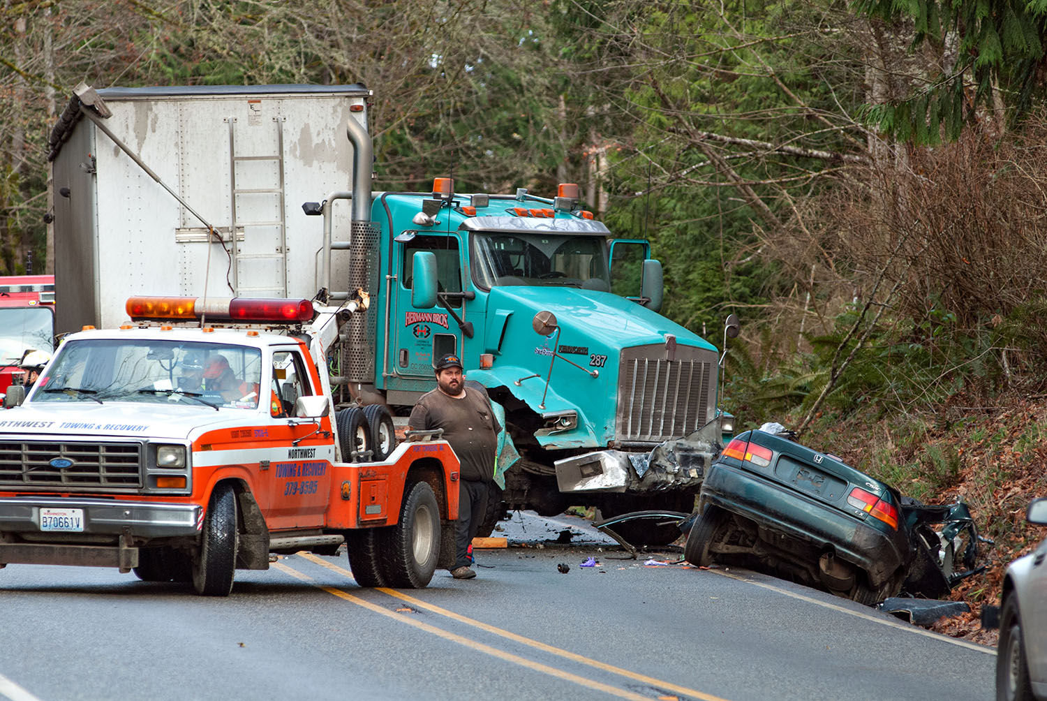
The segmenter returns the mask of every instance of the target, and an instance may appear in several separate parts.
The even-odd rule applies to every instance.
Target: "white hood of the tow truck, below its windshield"
[[[90,401],[28,402],[0,411],[0,435],[126,436],[185,440],[197,428],[214,430],[245,421],[245,411],[180,404]]]

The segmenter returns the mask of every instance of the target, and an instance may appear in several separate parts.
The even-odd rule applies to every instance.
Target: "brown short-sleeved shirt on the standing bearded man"
[[[424,395],[410,410],[407,428],[443,429],[462,463],[462,479],[488,482],[494,479],[494,457],[502,425],[481,392],[465,388],[465,398],[449,397],[440,389]]]

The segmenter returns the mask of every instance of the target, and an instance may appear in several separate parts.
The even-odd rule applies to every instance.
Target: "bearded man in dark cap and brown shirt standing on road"
[[[476,576],[472,565],[472,539],[484,521],[487,496],[494,481],[497,435],[502,425],[491,411],[486,394],[467,389],[458,355],[444,355],[437,362],[437,389],[422,395],[407,419],[411,431],[443,429],[461,463],[459,480],[459,520],[454,532],[455,579]]]

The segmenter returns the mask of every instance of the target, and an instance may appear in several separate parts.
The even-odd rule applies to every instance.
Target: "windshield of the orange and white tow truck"
[[[62,347],[29,400],[255,409],[261,375],[262,352],[247,346],[85,338]]]

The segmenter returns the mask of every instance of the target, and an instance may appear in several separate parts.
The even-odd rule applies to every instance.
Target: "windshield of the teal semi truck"
[[[472,237],[475,282],[499,285],[555,285],[610,291],[607,250],[598,236],[487,234]]]

